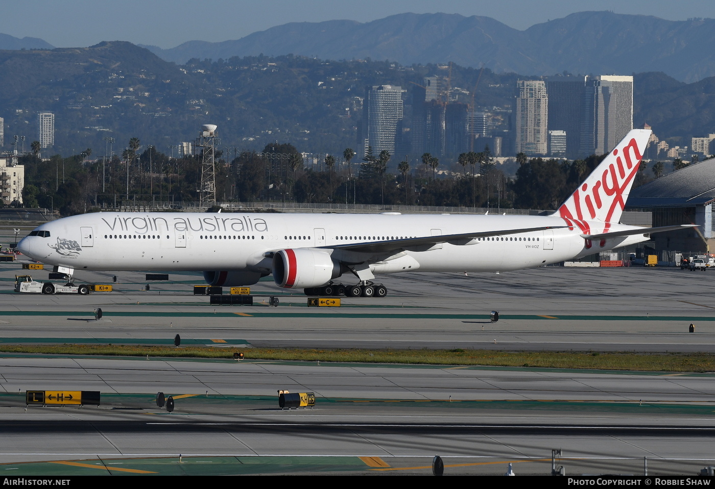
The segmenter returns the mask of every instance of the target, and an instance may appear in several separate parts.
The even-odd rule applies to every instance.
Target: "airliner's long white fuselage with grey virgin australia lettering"
[[[605,223],[591,223],[591,233]],[[81,270],[270,271],[270,255],[459,233],[555,229],[441,243],[428,251],[381,253],[375,274],[400,271],[510,271],[646,241],[642,234],[589,243],[556,216],[317,213],[89,213],[45,223],[19,243],[30,258]],[[635,226],[613,224],[610,231]],[[37,231],[37,232],[36,232]],[[590,244],[590,247],[587,247]]]

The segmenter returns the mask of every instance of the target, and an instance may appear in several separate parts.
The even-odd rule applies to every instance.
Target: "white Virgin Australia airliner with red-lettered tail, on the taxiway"
[[[18,248],[70,281],[82,270],[181,270],[249,286],[272,274],[308,295],[385,296],[375,275],[533,268],[691,227],[618,223],[650,133],[630,131],[548,216],[100,212],[45,223]],[[355,285],[334,282],[349,274]]]

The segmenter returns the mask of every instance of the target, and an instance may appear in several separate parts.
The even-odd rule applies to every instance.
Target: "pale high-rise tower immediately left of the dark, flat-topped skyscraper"
[[[546,154],[548,97],[541,80],[516,81],[516,153]]]

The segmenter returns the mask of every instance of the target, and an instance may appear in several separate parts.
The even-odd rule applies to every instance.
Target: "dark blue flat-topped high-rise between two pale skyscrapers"
[[[586,76],[549,76],[546,79],[548,130],[566,131],[566,154],[561,156],[581,156],[578,150],[581,146],[581,113],[585,90]]]

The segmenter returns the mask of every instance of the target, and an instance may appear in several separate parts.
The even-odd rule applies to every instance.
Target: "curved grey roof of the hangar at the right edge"
[[[715,158],[634,188],[626,208],[696,207],[715,201]]]

